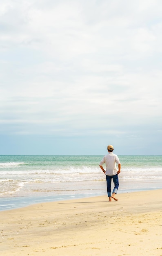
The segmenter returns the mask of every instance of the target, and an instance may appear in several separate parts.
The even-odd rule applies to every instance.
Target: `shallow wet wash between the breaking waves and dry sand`
[[[120,180],[118,195],[121,193],[133,193],[137,191],[148,191],[162,189],[161,180]],[[26,184],[20,191],[10,196],[0,197],[0,211],[18,209],[41,202],[55,202],[78,198],[107,195],[105,181],[93,182],[62,182],[58,184],[36,183]]]

